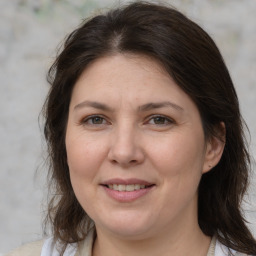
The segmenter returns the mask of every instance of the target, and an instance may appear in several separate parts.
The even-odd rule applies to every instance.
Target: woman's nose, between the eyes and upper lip
[[[124,168],[141,164],[145,159],[140,135],[135,128],[119,127],[111,137],[108,159]]]

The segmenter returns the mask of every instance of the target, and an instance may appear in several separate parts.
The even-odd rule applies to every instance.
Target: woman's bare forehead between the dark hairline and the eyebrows
[[[86,100],[118,106],[170,100],[194,105],[159,62],[130,54],[99,58],[84,70],[74,86],[71,105]]]

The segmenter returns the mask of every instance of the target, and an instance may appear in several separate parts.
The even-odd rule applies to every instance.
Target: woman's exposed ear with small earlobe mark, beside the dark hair
[[[210,171],[214,166],[216,166],[222,156],[226,141],[226,127],[223,122],[221,122],[215,128],[215,135],[208,138],[206,142],[205,150],[205,161],[203,165],[203,173]]]

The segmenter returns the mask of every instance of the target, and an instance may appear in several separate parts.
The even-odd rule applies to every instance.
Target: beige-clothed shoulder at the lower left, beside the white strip
[[[40,256],[44,240],[25,244],[5,256]]]

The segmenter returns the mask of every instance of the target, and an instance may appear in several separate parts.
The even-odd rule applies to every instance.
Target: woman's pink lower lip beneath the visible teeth
[[[134,191],[118,191],[103,186],[106,193],[119,202],[132,202],[148,194],[154,186]]]

